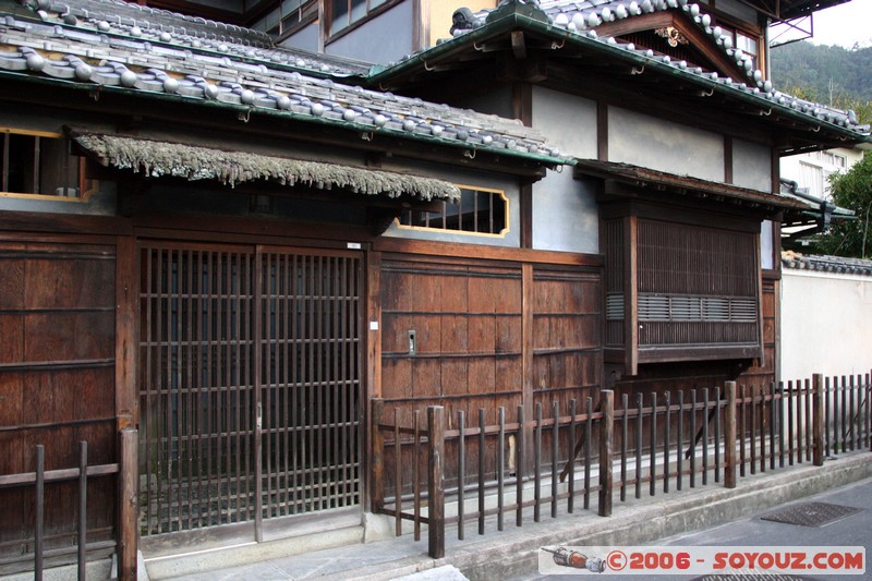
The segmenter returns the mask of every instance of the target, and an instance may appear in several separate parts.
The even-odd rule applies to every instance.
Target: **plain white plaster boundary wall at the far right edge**
[[[872,277],[783,269],[782,379],[872,370]]]

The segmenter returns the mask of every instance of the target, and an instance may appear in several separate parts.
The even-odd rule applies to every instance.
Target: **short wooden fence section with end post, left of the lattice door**
[[[119,562],[118,579],[136,579],[135,482],[132,477],[124,477],[120,470],[120,465],[125,460],[130,461],[131,453],[135,453],[136,441],[135,429],[122,431],[120,436],[121,463],[99,465],[88,465],[88,444],[87,441],[80,441],[78,465],[60,470],[45,469],[46,450],[45,446],[40,444],[34,448],[34,472],[0,475],[0,488],[33,486],[34,489],[34,536],[27,544],[33,547],[33,554],[29,558],[33,560],[35,581],[41,581],[47,560],[52,560],[55,564],[65,564],[74,560],[77,566],[77,579],[84,581],[87,578],[86,569],[89,552],[97,554],[117,553]],[[135,462],[132,465],[135,465]],[[120,494],[118,509],[119,530],[116,531],[117,540],[88,542],[88,480],[114,474],[119,475],[118,489]],[[46,485],[64,481],[77,481],[77,510],[75,515],[70,516],[71,519],[75,519],[75,544],[64,548],[45,548],[47,538],[45,531]],[[128,499],[128,501],[125,503],[124,499]],[[133,535],[131,535],[131,531],[133,531]],[[75,555],[74,557],[72,557],[73,554]],[[24,559],[27,559],[27,556],[24,556]],[[0,573],[2,573],[3,569],[11,571],[22,562],[24,560],[21,558],[0,560]]]

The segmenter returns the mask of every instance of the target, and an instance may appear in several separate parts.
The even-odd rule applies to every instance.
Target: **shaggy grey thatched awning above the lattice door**
[[[73,140],[102,166],[132,169],[150,178],[217,180],[231,187],[270,180],[288,186],[339,187],[388,197],[460,198],[460,190],[450,182],[391,171],[99,133],[74,133]]]

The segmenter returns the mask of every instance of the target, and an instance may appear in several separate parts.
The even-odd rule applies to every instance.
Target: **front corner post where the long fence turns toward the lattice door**
[[[429,508],[428,554],[434,559],[445,557],[445,408],[427,408],[427,492]],[[481,475],[480,475],[481,477]]]

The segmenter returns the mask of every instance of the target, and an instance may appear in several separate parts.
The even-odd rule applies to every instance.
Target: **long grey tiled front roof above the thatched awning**
[[[192,48],[194,37],[180,32],[182,24],[189,22],[185,19],[178,21],[179,27],[169,33],[171,36],[166,41],[108,34],[101,31],[106,27],[102,23],[108,22],[108,7],[117,5],[120,11],[129,12],[131,4],[106,0],[84,3],[104,7],[104,19],[88,26],[82,25],[84,13],[76,16],[75,24],[50,24],[12,15],[0,20],[0,76],[24,76],[85,87],[98,85],[104,90],[143,98],[210,101],[235,107],[245,114],[263,112],[353,129],[367,138],[392,135],[463,148],[471,156],[475,152],[493,152],[552,165],[572,162],[542,134],[517,120],[366,90],[332,78],[289,71],[269,60],[251,60],[233,50],[220,53],[195,49]],[[62,12],[52,5],[55,13]],[[73,12],[72,9],[68,11]],[[87,14],[90,17],[92,12]],[[165,32],[171,22],[177,22],[169,13],[146,14],[159,14]],[[194,24],[201,28],[214,26],[203,22]],[[124,25],[132,27],[133,23],[125,21]],[[177,43],[173,34],[189,39]],[[240,38],[259,37],[258,33],[239,34]]]

